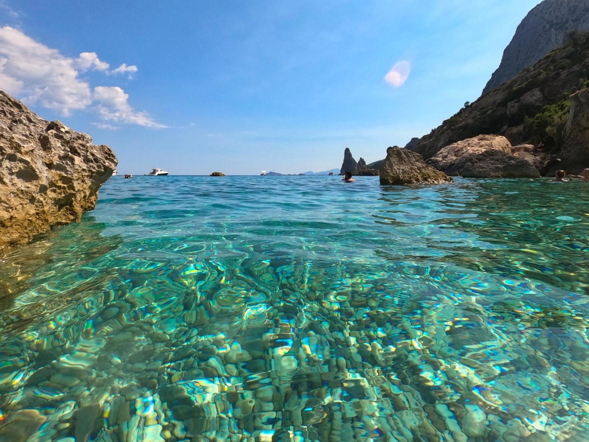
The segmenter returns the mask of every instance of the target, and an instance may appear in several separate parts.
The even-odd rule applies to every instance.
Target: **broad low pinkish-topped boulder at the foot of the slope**
[[[513,155],[505,137],[479,135],[443,147],[426,163],[448,175],[468,178],[540,177],[534,163],[522,153],[527,152],[521,150],[520,155]]]

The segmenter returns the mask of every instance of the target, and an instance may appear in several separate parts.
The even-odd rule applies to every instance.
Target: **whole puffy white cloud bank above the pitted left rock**
[[[133,110],[129,96],[120,87],[98,86],[92,91],[88,81],[79,76],[88,70],[129,75],[137,72],[135,65],[121,64],[112,71],[108,71],[109,67],[96,52],[82,52],[78,58],[65,57],[18,29],[0,28],[0,89],[64,116],[90,108],[105,121],[166,127],[145,112]]]

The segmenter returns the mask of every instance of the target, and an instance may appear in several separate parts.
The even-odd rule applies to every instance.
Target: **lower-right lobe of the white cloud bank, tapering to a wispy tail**
[[[147,127],[166,127],[156,123],[145,112],[134,111],[128,103],[129,95],[118,86],[94,88],[94,100],[98,103],[98,114],[103,120],[116,123],[139,124]]]

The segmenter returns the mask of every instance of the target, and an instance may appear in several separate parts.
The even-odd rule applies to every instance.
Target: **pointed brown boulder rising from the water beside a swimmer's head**
[[[389,147],[380,167],[380,184],[441,184],[452,182],[444,172],[428,166],[418,153],[401,147]]]

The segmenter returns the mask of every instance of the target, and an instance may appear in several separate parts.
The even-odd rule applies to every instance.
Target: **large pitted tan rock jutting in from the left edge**
[[[116,166],[108,146],[0,91],[0,250],[79,221]]]

